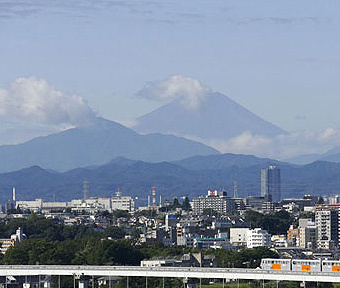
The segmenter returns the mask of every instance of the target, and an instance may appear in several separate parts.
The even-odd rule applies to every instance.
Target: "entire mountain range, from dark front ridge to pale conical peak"
[[[135,129],[140,133],[157,133],[140,134],[96,118],[87,126],[0,146],[0,200],[10,198],[13,186],[18,199],[81,198],[85,178],[92,196],[110,196],[120,187],[142,204],[153,186],[164,198],[172,199],[205,195],[208,189],[226,189],[230,194],[236,180],[240,196],[259,195],[260,169],[268,165],[281,169],[283,197],[340,192],[339,163],[295,165],[252,155],[221,154],[202,143],[168,135],[209,142],[244,132],[264,136],[286,133],[225,95],[211,93],[204,101],[193,109],[176,99],[138,119]],[[334,161],[339,153],[337,148],[316,159]]]

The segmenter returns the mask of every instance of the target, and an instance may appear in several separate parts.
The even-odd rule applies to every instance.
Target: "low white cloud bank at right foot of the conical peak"
[[[302,131],[275,138],[244,132],[229,141],[211,140],[206,144],[222,153],[254,154],[260,157],[284,159],[303,154],[325,153],[340,145],[340,129],[327,128],[318,132]]]

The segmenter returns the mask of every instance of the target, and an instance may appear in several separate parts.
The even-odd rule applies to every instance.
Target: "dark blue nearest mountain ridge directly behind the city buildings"
[[[221,164],[214,166],[212,159]],[[194,163],[200,163],[199,167]],[[144,205],[153,186],[163,200],[205,195],[208,189],[225,189],[232,196],[234,180],[237,181],[240,197],[260,195],[260,169],[269,164],[281,169],[282,197],[335,195],[340,192],[339,163],[320,161],[298,166],[249,155],[226,154],[193,157],[176,163],[147,163],[119,157],[105,165],[63,173],[33,166],[0,174],[0,200],[11,197],[13,186],[17,188],[19,200],[82,198],[85,178],[89,181],[90,196],[112,196],[120,187],[125,195],[138,197],[138,203]]]

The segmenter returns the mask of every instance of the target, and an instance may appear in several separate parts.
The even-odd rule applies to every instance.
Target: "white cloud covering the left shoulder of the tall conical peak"
[[[211,90],[197,79],[174,75],[164,81],[148,83],[137,95],[158,101],[180,99],[188,109],[196,109],[209,92]]]

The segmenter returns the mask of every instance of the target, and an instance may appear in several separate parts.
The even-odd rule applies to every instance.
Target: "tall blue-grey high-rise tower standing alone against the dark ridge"
[[[261,169],[261,196],[267,201],[279,202],[281,200],[280,169],[276,166]]]

